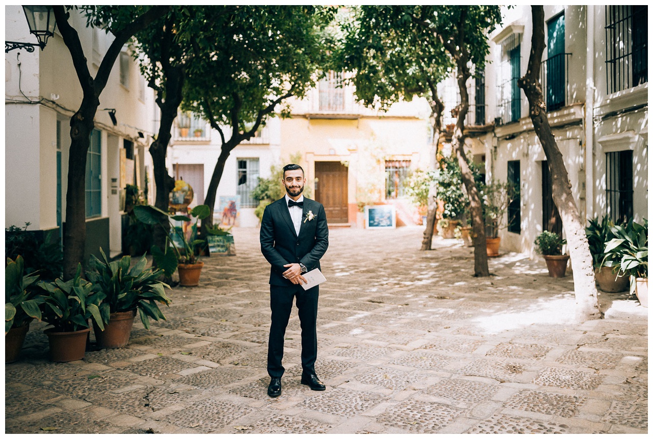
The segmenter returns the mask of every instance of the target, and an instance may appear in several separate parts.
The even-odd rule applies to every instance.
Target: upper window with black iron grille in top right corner
[[[605,7],[608,93],[648,82],[648,6]]]

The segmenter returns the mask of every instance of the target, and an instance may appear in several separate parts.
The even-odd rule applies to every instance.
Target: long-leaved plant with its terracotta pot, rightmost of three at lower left
[[[165,295],[165,288],[170,287],[158,280],[163,270],[145,268],[148,263],[145,255],[131,267],[129,256],[109,262],[102,249],[100,253],[102,260],[91,255],[91,269],[86,272],[93,291],[104,295],[100,310],[104,321],[108,321],[104,331],[93,325],[95,340],[101,348],[124,348],[129,343],[136,310],[145,329],[150,329],[150,319],[165,320],[157,302],[170,305]]]

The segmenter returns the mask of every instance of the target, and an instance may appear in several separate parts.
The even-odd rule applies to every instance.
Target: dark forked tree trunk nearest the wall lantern
[[[106,87],[109,74],[124,44],[140,29],[163,16],[169,7],[155,6],[148,12],[114,33],[100,67],[93,78],[88,70],[84,49],[77,31],[69,24],[69,14],[63,6],[54,6],[54,16],[72,58],[77,78],[82,87],[83,99],[79,110],[71,118],[71,148],[69,152],[68,189],[66,192],[66,216],[63,234],[63,279],[75,276],[77,265],[84,263],[86,247],[86,154],[91,131],[95,127],[95,113],[100,105],[99,97]]]

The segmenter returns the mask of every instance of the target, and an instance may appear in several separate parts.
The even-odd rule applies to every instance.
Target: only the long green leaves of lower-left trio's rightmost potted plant
[[[150,329],[149,319],[165,320],[158,303],[170,304],[165,294],[167,284],[160,282],[163,270],[146,268],[148,260],[140,258],[131,267],[131,257],[123,256],[119,261],[109,262],[103,250],[102,260],[91,255],[91,270],[86,272],[88,280],[93,284],[93,291],[104,295],[100,306],[103,319],[108,321],[112,312],[126,312],[138,308],[140,321],[146,329]]]

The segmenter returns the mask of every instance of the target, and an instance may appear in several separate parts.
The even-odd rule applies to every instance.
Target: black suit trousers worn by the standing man
[[[317,297],[319,286],[304,291],[300,285],[281,287],[270,285],[270,310],[272,310],[272,325],[268,340],[268,374],[281,378],[285,369],[281,365],[283,359],[283,340],[288,325],[293,299],[299,314],[302,327],[302,371],[315,374],[315,359],[317,359]]]

